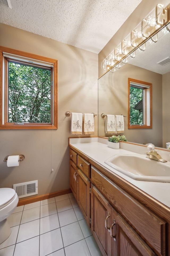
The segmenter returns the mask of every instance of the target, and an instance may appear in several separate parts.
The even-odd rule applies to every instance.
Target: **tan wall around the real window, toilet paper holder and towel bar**
[[[68,138],[77,135],[70,134],[65,112],[97,114],[98,55],[2,23],[0,35],[1,46],[58,60],[58,130],[1,130],[0,187],[38,179],[38,195],[68,189]],[[97,125],[95,117],[94,136]],[[25,160],[7,167],[5,156],[18,154]]]

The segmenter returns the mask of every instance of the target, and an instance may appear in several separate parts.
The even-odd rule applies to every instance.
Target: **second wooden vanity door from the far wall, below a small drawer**
[[[78,196],[80,209],[90,227],[90,180],[78,169]]]

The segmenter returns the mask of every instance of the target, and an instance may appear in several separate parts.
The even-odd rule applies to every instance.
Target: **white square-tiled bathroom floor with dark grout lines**
[[[72,193],[16,207],[0,256],[102,256]]]

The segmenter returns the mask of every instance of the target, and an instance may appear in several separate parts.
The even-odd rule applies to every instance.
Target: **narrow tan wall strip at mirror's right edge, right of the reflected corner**
[[[166,142],[170,142],[170,115],[169,115],[169,95],[170,95],[170,72],[162,75],[162,111],[163,111],[163,147]]]

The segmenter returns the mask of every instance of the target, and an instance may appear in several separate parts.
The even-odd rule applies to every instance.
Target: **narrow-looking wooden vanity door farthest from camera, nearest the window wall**
[[[75,198],[77,199],[77,183],[78,183],[77,166],[70,160],[70,189],[72,190]]]

